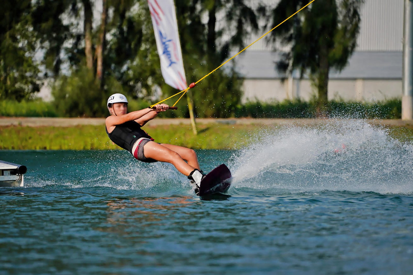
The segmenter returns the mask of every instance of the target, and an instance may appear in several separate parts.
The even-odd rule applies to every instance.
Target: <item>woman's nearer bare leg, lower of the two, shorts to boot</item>
[[[160,145],[156,142],[148,142],[144,147],[145,157],[157,161],[168,162],[184,175],[188,176],[196,167],[186,163],[183,158],[175,151]],[[199,164],[198,164],[199,167]],[[197,168],[198,169],[198,168]]]

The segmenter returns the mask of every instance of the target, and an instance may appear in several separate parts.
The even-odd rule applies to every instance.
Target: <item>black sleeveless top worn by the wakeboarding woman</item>
[[[125,150],[128,150],[133,154],[132,147],[135,144],[136,140],[141,137],[149,138],[154,140],[150,135],[148,135],[144,130],[140,128],[140,124],[136,121],[127,121],[125,123],[116,125],[112,133],[109,133],[106,128],[106,133],[116,145],[122,147]]]

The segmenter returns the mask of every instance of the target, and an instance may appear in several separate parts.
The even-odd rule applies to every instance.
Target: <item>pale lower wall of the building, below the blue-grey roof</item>
[[[248,101],[282,101],[300,98],[309,101],[316,95],[308,79],[245,79],[242,103]],[[401,99],[403,95],[401,79],[332,79],[328,83],[328,99],[344,101],[388,100]]]

